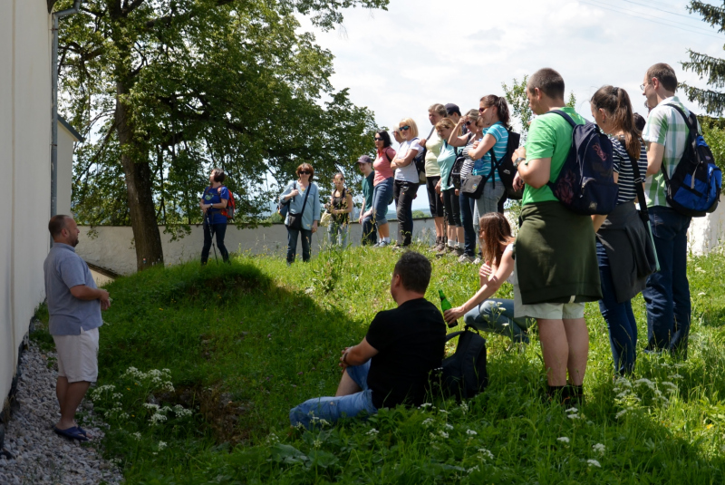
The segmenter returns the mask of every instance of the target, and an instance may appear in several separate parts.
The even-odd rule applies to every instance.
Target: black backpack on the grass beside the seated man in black
[[[446,335],[446,342],[457,336],[456,353],[441,365],[440,386],[446,396],[469,399],[483,392],[488,385],[486,339],[466,325],[464,330]]]

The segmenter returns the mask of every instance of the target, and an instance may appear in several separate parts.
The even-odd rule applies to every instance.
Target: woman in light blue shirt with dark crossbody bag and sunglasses
[[[312,235],[317,232],[320,222],[320,189],[312,180],[314,168],[303,163],[296,170],[297,179],[290,180],[285,191],[279,196],[283,204],[289,204],[285,218],[287,227],[287,265],[295,262],[297,256],[297,236],[302,236],[302,260],[310,260]]]

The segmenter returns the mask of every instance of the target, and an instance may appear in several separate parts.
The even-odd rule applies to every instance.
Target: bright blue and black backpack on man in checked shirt
[[[679,112],[690,132],[682,158],[677,164],[672,178],[662,164],[662,175],[666,186],[666,199],[672,209],[691,218],[704,217],[718,208],[722,172],[715,165],[710,147],[697,132],[697,118],[694,113],[685,116],[679,106],[668,104]]]

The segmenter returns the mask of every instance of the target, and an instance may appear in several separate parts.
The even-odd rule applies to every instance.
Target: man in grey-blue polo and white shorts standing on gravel
[[[98,327],[101,310],[111,306],[108,292],[96,287],[85,261],[75,254],[80,230],[73,218],[53,216],[48,223],[53,247],[43,263],[48,325],[58,353],[55,393],[61,419],[53,431],[78,441],[88,434],[75,422],[75,412],[98,377]]]

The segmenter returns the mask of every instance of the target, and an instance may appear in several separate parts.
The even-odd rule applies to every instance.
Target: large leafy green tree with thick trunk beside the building
[[[63,112],[89,140],[74,167],[76,217],[131,224],[143,269],[163,263],[158,224],[201,222],[213,166],[229,175],[242,225],[268,213],[276,180],[299,163],[321,178],[351,167],[372,112],[333,90],[332,53],[296,32],[295,15],[329,29],[343,8],[387,3],[85,0],[60,38]]]

